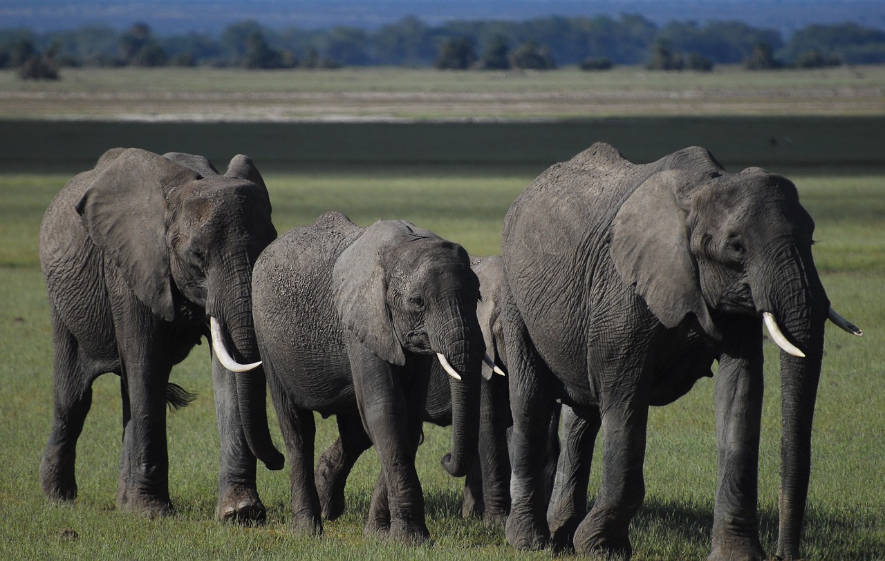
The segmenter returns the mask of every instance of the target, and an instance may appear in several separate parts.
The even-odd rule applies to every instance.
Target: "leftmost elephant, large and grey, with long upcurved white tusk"
[[[165,404],[188,403],[169,384],[203,335],[219,322],[242,364],[258,360],[251,317],[251,267],[273,241],[271,204],[260,173],[236,156],[220,175],[205,158],[114,149],[78,174],[46,211],[40,232],[53,334],[53,420],[40,465],[43,492],[77,496],[77,438],[89,412],[92,382],[120,376],[122,462],[117,503],[165,514],[168,489]],[[263,519],[256,461],[240,423],[242,409],[264,434],[254,443],[270,465],[282,456],[266,428],[260,368],[235,375],[212,359],[221,437],[219,517]]]

